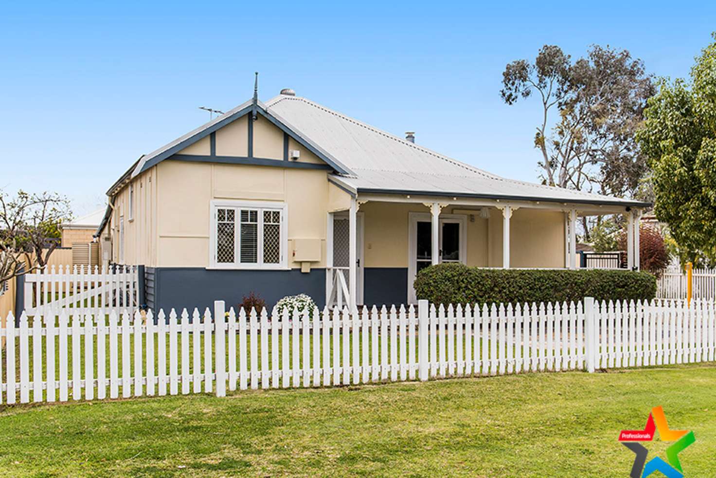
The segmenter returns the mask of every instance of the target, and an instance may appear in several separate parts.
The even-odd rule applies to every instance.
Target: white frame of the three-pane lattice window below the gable
[[[216,262],[216,225],[217,210],[221,208],[235,208],[234,214],[234,262],[231,264],[226,262]],[[241,232],[239,230],[241,224],[240,209],[258,209],[258,244],[256,250],[256,259],[258,262],[246,263],[240,262],[241,259]],[[281,226],[279,228],[281,255],[278,264],[263,264],[263,210],[281,212]],[[208,269],[259,269],[259,270],[286,270],[289,269],[289,206],[286,203],[278,201],[236,201],[230,199],[211,201],[211,209],[209,211],[211,217],[211,229],[209,231],[209,267]]]

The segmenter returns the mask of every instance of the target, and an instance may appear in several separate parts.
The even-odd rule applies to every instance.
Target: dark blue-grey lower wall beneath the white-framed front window
[[[147,270],[150,269],[147,267]],[[147,287],[150,280],[147,280]],[[180,312],[184,307],[213,308],[215,300],[225,300],[226,309],[236,307],[244,295],[255,292],[273,307],[286,295],[310,295],[319,307],[326,302],[326,271],[312,269],[304,274],[300,269],[291,270],[208,270],[201,267],[155,267],[153,291],[147,290],[154,310]],[[150,296],[153,296],[150,299]]]

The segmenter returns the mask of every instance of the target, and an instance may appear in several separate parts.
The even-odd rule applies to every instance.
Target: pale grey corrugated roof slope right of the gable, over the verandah
[[[266,102],[321,145],[354,175],[341,181],[358,191],[435,193],[595,204],[646,205],[612,196],[501,178],[337,113],[304,97],[279,95]]]

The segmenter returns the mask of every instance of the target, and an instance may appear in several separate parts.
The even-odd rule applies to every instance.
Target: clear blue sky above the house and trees
[[[543,44],[626,48],[684,77],[716,4],[673,2],[14,2],[0,10],[0,188],[67,194],[75,214],[142,153],[283,87],[428,148],[535,181],[539,107],[500,100]]]

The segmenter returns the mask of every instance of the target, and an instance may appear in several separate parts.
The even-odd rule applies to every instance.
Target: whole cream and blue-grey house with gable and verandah
[[[141,156],[96,235],[145,265],[147,305],[413,302],[417,271],[576,267],[576,220],[648,204],[495,176],[295,95],[253,99]]]

